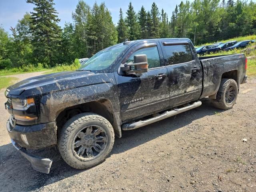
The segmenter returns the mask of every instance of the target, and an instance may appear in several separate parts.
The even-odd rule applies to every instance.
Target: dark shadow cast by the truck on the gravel
[[[202,106],[198,108],[142,128],[123,131],[122,138],[115,138],[116,140],[111,154],[122,153],[186,126],[194,120],[222,111],[223,110],[212,107],[208,99],[203,99]],[[12,146],[12,144],[0,146],[0,191],[36,190],[42,186],[74,176],[80,172],[86,172],[86,170],[76,170],[68,166],[64,160],[62,160],[58,149],[55,147],[29,151],[38,156],[51,158],[53,160],[50,173],[43,174],[33,170],[30,163]]]

